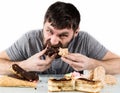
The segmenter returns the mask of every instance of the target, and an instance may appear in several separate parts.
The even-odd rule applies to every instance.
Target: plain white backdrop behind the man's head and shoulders
[[[24,33],[40,29],[49,5],[57,0],[0,0],[0,51]],[[73,3],[81,13],[80,29],[120,55],[119,0],[59,0]]]

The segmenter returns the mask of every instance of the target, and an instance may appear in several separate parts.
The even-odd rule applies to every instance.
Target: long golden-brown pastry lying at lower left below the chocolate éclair
[[[9,76],[0,77],[0,86],[1,87],[36,87],[37,82],[25,81]]]

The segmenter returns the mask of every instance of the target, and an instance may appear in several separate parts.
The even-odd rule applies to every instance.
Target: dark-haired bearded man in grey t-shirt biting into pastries
[[[120,73],[120,57],[107,50],[86,32],[80,31],[80,13],[70,3],[52,4],[44,18],[42,30],[23,35],[10,48],[0,53],[0,74],[11,74],[16,63],[27,71],[41,74],[65,74],[103,66],[109,74]],[[68,48],[69,54],[55,59],[46,56],[46,42]]]

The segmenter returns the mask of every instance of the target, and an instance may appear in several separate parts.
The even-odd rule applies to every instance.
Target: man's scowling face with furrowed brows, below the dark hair
[[[62,47],[67,47],[74,34],[72,29],[56,29],[51,23],[46,22],[43,27],[44,45],[50,40],[52,45],[57,45],[60,42]]]

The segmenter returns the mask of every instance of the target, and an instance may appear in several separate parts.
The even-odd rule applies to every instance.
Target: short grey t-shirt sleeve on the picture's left
[[[6,49],[6,53],[8,54],[12,61],[25,60],[27,56],[25,54],[26,44],[28,44],[27,42],[28,40],[26,38],[26,35],[23,35],[13,45]]]

